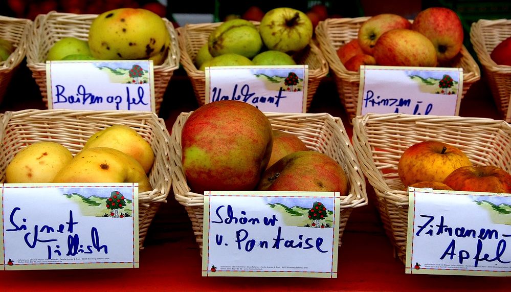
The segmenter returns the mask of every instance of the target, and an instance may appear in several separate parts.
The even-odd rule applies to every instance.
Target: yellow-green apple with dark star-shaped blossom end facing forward
[[[284,53],[304,49],[313,36],[309,17],[294,8],[274,8],[264,14],[259,25],[262,41],[269,50]]]

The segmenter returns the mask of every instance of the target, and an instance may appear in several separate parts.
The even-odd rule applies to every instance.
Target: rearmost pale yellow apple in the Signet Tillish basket
[[[120,150],[138,161],[146,173],[154,163],[154,152],[149,142],[135,129],[126,125],[112,125],[96,132],[87,140],[83,150],[93,147],[109,147]]]

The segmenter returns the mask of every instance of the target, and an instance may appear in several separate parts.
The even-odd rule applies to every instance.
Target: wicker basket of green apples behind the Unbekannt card
[[[211,32],[220,24],[188,24],[176,29],[181,51],[181,64],[190,78],[199,105],[205,103],[206,74],[204,71],[198,70],[193,61],[198,50],[208,42]],[[254,24],[259,27],[259,23],[254,22]],[[308,110],[321,79],[328,74],[328,64],[319,48],[312,41],[308,47],[293,58],[297,64],[307,64],[309,67],[306,101],[306,109]]]

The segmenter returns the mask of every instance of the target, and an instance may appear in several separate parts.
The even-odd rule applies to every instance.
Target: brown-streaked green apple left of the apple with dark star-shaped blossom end
[[[216,27],[209,35],[208,46],[213,57],[234,53],[252,58],[261,50],[262,40],[253,23],[236,18]]]

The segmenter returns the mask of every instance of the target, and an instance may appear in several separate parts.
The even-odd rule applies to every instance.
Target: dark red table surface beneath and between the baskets
[[[160,116],[170,128],[182,111],[196,108],[191,85],[183,76],[171,80]],[[176,94],[179,93],[179,94]],[[38,100],[13,101],[5,110],[43,108]],[[164,101],[165,103],[165,101]],[[351,126],[331,80],[322,82],[310,111],[330,113]],[[499,119],[484,80],[476,82],[461,101],[460,116]],[[467,291],[509,290],[508,277],[438,276],[405,274],[395,258],[368,184],[369,204],[354,208],[339,248],[338,278],[202,277],[201,256],[184,208],[169,194],[149,228],[139,268],[2,271],[0,290],[6,291]]]

